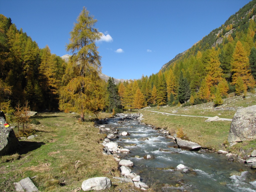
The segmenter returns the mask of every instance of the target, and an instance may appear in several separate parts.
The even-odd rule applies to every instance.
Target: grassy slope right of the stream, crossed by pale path
[[[228,98],[224,99],[223,105],[218,108],[214,107],[213,102],[209,102],[186,107],[162,106],[158,109],[157,107],[151,107],[139,110],[138,112],[144,115],[142,122],[158,128],[164,128],[172,134],[182,128],[189,140],[200,144],[202,147],[213,150],[226,150],[243,155],[250,153],[256,148],[256,141],[243,142],[233,147],[228,147],[227,138],[231,124],[230,121],[205,122],[206,118],[174,116],[152,111],[209,117],[217,115],[220,118],[232,119],[237,109],[255,104],[255,93],[248,93],[246,99],[243,99],[242,96],[234,96],[232,93],[228,95]],[[244,153],[242,153],[243,151]]]

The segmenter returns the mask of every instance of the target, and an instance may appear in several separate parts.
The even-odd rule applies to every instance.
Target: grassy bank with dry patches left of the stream
[[[109,116],[102,113],[101,117]],[[70,113],[40,113],[32,125],[38,137],[20,140],[23,146],[16,154],[0,157],[0,191],[15,191],[14,182],[34,177],[40,191],[75,191],[91,177],[120,176],[112,156],[102,154],[104,135],[98,134],[93,121],[78,121]],[[17,131],[17,130],[14,130]],[[106,191],[131,187],[113,185]]]

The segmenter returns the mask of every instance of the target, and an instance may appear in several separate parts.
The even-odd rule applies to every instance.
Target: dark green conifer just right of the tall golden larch
[[[117,112],[120,110],[120,96],[118,95],[118,89],[115,85],[114,78],[110,77],[108,80],[107,90],[109,93],[109,113],[113,111],[113,109]]]

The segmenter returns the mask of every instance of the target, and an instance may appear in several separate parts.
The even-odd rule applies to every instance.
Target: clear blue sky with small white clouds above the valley
[[[70,31],[83,7],[105,36],[97,42],[102,72],[118,79],[150,76],[177,54],[220,27],[249,0],[1,0],[12,19],[40,48],[68,54]]]

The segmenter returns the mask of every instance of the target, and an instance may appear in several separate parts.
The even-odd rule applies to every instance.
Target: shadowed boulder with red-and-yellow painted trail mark
[[[4,117],[0,117],[0,155],[9,154],[16,151],[19,141],[15,136],[12,128],[5,127],[6,121]]]

